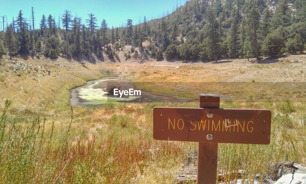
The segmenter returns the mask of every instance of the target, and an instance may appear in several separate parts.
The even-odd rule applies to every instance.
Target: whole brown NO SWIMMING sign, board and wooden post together
[[[271,111],[219,106],[218,95],[199,94],[199,108],[153,109],[154,139],[199,142],[198,184],[217,181],[218,143],[270,143]]]

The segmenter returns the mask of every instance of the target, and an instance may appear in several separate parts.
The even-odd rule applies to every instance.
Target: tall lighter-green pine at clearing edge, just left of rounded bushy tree
[[[253,55],[255,51],[256,60],[259,56],[259,38],[258,38],[258,28],[259,28],[260,14],[259,10],[253,6],[248,12],[246,18],[246,44],[244,45],[244,53],[247,56]]]

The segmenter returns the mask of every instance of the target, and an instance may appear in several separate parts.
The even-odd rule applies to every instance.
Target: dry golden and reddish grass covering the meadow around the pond
[[[2,62],[5,62],[5,66],[10,64],[9,61]],[[38,61],[32,59],[28,62],[38,64]],[[39,62],[52,61],[47,62],[45,58],[41,58]],[[203,92],[224,94],[233,98],[222,100],[222,108],[271,110],[270,145],[219,144],[218,168],[224,172],[231,173],[242,169],[245,172],[241,178],[252,180],[256,174],[269,174],[270,162],[290,160],[306,165],[306,104],[289,100],[305,99],[302,88],[296,86],[293,91],[290,86],[278,84],[256,88],[245,83],[240,86],[192,83],[247,81],[247,84],[253,85],[257,81],[265,81],[271,74],[275,75],[271,75],[267,81],[292,81],[293,77],[303,81],[305,74],[299,70],[304,67],[305,62],[295,68],[289,67],[290,62],[265,64],[262,69],[253,67],[254,64],[245,64],[242,60],[234,60],[234,64],[181,64],[177,69],[174,69],[174,65],[163,66],[164,63],[159,66],[88,64],[87,69],[71,62],[69,71],[74,73],[68,73],[64,66],[55,65],[64,62],[68,64],[69,61],[59,59],[47,65],[46,68],[59,73],[56,77],[36,76],[39,80],[26,113],[22,105],[29,104],[36,81],[28,78],[28,73],[24,73],[26,76],[17,77],[11,71],[0,71],[0,101],[2,103],[5,99],[13,100],[10,105],[8,101],[6,104],[0,104],[0,183],[174,182],[174,176],[186,159],[194,153],[197,144],[154,140],[153,107],[197,107],[198,104],[107,104],[100,108],[73,108],[72,114],[67,106],[69,89],[84,84],[85,80],[102,77],[99,72],[101,67],[121,72],[133,82],[180,82],[155,83],[155,86],[153,83],[144,83],[141,86],[156,92],[177,94],[191,99],[196,99],[197,95]],[[284,70],[287,70],[288,77],[278,80],[281,79],[278,75],[284,75]],[[245,71],[247,75],[241,75],[241,71]],[[261,72],[265,72],[264,79]],[[251,79],[256,82],[250,82]],[[66,85],[40,114],[39,109],[48,104],[50,97],[63,83]],[[279,97],[288,98],[288,101]],[[129,105],[132,107],[129,108]],[[54,110],[57,111],[55,116],[45,116]],[[236,174],[227,175],[224,182],[237,177]],[[261,182],[263,177],[259,180]]]

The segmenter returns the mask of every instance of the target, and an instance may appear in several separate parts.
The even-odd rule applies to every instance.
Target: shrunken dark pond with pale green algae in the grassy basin
[[[123,77],[103,77],[88,81],[86,85],[71,90],[70,105],[77,107],[103,106],[106,103],[150,103],[150,102],[186,102],[188,100],[173,95],[153,93],[130,83]],[[141,90],[141,95],[114,96],[114,89]]]

